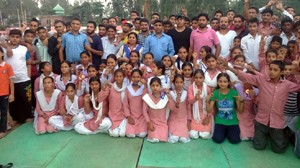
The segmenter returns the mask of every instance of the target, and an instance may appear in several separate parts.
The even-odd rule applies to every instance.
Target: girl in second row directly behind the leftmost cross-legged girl
[[[63,61],[60,64],[61,75],[55,78],[56,89],[59,89],[65,93],[66,85],[68,83],[74,83],[77,77],[71,73],[71,63],[69,61]]]

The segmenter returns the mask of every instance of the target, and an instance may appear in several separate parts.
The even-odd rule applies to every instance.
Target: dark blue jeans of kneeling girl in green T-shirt
[[[240,127],[238,125],[216,124],[214,135],[212,137],[213,141],[216,143],[222,143],[226,137],[230,143],[240,143]]]

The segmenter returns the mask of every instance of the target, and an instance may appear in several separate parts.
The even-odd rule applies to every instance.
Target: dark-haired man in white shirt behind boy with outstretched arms
[[[257,18],[251,18],[249,20],[249,34],[242,38],[241,47],[243,49],[244,55],[246,57],[246,62],[259,70],[259,43],[261,40],[261,35],[258,34],[259,21]]]

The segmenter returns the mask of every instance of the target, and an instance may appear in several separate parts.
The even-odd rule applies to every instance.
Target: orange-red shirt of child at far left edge
[[[0,96],[9,95],[9,79],[14,76],[11,66],[3,61],[0,64]]]

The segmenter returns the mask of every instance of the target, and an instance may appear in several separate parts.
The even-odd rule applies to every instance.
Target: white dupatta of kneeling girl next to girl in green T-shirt
[[[195,84],[195,82],[193,83],[193,92],[194,92],[194,96],[196,96],[197,92],[198,92],[198,88]],[[206,114],[206,97],[207,97],[207,86],[206,84],[203,82],[202,84],[202,92],[200,95],[200,98],[202,99],[202,107],[203,107],[203,113],[204,115]],[[201,118],[200,118],[200,110],[199,110],[199,100],[197,100],[194,104],[193,104],[193,117],[194,120],[196,121],[196,123],[200,123]]]

